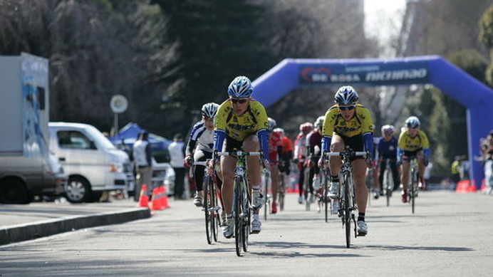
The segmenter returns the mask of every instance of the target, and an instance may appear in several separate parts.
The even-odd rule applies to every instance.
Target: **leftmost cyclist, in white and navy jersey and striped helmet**
[[[214,146],[214,117],[216,116],[217,108],[219,108],[219,104],[207,103],[200,109],[202,120],[195,123],[190,131],[190,137],[185,149],[185,167],[191,167],[194,161],[204,162],[205,160],[212,158],[212,147]],[[193,177],[196,186],[194,205],[197,207],[202,206],[202,199],[204,197],[204,192],[202,191],[204,169],[205,167],[203,165],[194,165],[193,168]]]

